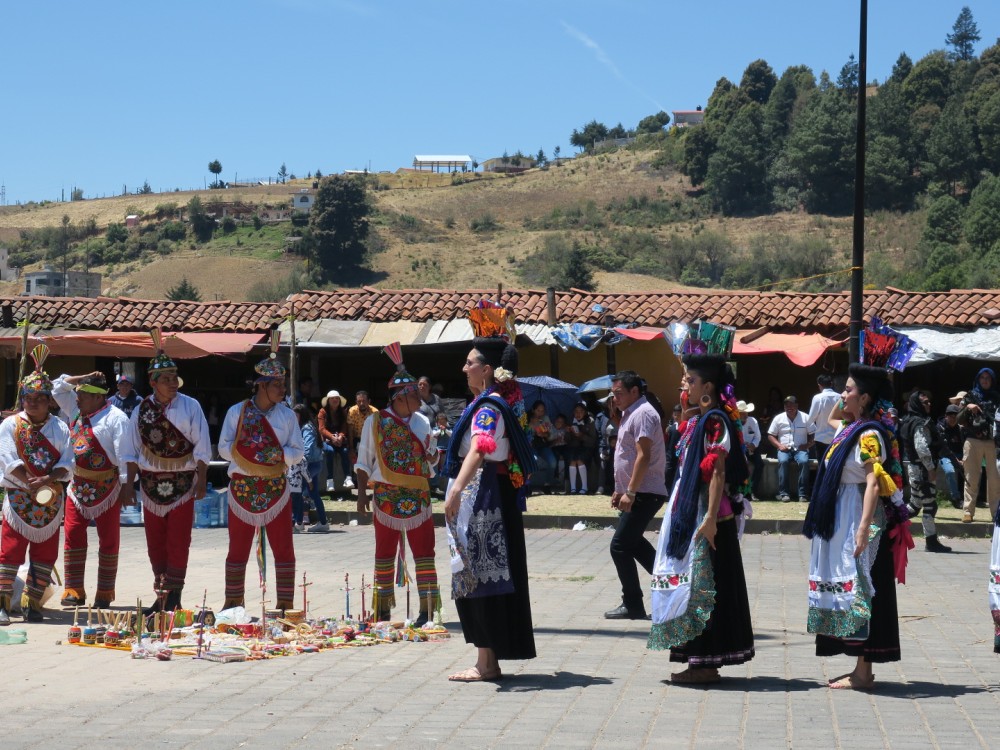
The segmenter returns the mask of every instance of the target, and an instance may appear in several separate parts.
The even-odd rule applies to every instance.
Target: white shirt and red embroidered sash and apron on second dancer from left
[[[70,417],[74,470],[67,494],[80,515],[93,520],[115,504],[125,481],[127,469],[120,456],[129,429],[128,417],[110,403],[81,417],[76,390],[66,382],[66,375],[52,382],[52,397]]]

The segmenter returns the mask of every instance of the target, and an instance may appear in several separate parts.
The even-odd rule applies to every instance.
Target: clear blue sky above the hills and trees
[[[868,78],[944,48],[968,4],[870,0]],[[166,0],[8,3],[0,182],[7,203],[201,187],[222,178],[394,171],[415,154],[573,153],[591,119],[634,127],[704,105],[763,58],[836,77],[859,2]]]

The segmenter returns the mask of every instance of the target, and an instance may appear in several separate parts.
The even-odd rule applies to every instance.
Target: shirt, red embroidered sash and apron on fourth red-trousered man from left
[[[229,461],[229,508],[244,523],[266,526],[288,504],[287,471],[305,447],[298,417],[285,403],[262,412],[253,399],[226,412],[219,455]]]

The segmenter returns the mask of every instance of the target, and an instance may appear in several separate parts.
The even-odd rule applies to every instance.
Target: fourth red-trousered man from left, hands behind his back
[[[276,350],[272,340],[271,355],[255,368],[253,396],[229,409],[219,435],[219,455],[230,462],[223,609],[245,603],[247,560],[257,534],[266,536],[274,556],[275,607],[293,607],[295,549],[285,472],[302,460],[305,446],[298,417],[285,403],[285,368]]]

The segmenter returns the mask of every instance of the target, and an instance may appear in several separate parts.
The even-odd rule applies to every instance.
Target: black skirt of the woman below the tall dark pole
[[[896,571],[892,559],[892,543],[888,534],[882,536],[878,553],[872,563],[872,618],[868,623],[868,639],[845,641],[828,635],[816,636],[816,656],[864,656],[865,661],[882,663],[899,661],[899,614],[896,608]]]

